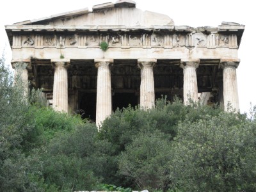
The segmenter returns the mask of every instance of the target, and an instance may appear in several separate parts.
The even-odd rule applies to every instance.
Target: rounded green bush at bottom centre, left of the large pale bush
[[[119,172],[131,177],[140,189],[164,189],[168,185],[168,164],[172,154],[166,135],[141,133],[119,157]]]

